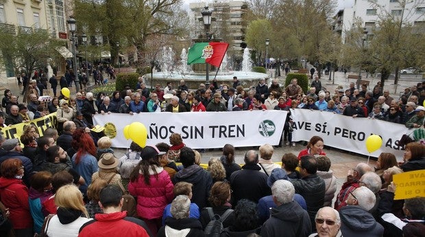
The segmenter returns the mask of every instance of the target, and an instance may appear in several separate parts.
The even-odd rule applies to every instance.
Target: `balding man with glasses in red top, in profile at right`
[[[366,163],[359,163],[356,165],[354,169],[350,169],[347,174],[347,182],[344,182],[341,187],[341,191],[337,196],[337,201],[335,201],[335,209],[339,210],[343,206],[347,205],[345,200],[348,199],[350,192],[354,191],[354,189],[360,186],[359,180],[363,174],[366,172],[372,171],[372,167],[367,165]]]

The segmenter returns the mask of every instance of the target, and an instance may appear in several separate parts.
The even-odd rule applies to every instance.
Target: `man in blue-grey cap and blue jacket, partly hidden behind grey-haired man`
[[[288,180],[287,172],[284,171],[284,169],[278,168],[271,171],[269,178],[267,178],[267,185],[271,188],[277,180]],[[302,195],[295,193],[293,199],[298,202],[302,209],[307,210],[306,200],[302,197]],[[273,201],[272,195],[261,197],[260,200],[258,200],[258,217],[260,217],[261,223],[264,223],[267,219],[269,219],[271,208],[276,208],[276,203]]]

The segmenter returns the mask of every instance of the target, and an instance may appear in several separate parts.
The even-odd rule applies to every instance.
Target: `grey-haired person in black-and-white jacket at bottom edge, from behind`
[[[202,224],[198,219],[189,218],[191,199],[178,195],[171,202],[171,216],[165,219],[165,225],[158,231],[162,236],[204,236]]]

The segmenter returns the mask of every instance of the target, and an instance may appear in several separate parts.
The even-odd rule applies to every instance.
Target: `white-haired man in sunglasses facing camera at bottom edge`
[[[341,219],[339,212],[334,208],[325,206],[320,208],[315,218],[317,233],[308,237],[341,237]]]

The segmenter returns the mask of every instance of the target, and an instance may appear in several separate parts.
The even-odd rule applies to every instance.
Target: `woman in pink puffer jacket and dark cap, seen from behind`
[[[161,227],[162,212],[173,201],[173,183],[160,166],[158,156],[165,154],[155,146],[147,145],[141,152],[142,160],[130,175],[128,191],[137,198],[137,214],[151,230],[157,233]]]

